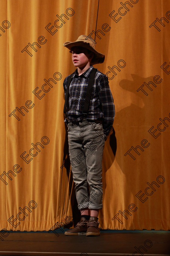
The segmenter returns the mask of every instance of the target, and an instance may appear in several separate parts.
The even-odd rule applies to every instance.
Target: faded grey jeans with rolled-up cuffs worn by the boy
[[[101,209],[103,207],[101,174],[105,144],[103,126],[101,123],[87,120],[79,124],[70,122],[67,126],[70,163],[78,208]]]

